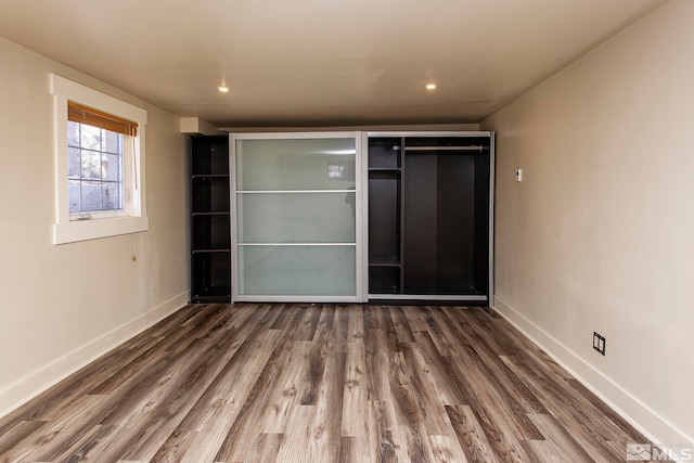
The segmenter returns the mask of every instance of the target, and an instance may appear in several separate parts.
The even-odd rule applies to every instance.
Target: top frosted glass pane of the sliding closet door
[[[355,190],[354,138],[236,140],[236,191]]]

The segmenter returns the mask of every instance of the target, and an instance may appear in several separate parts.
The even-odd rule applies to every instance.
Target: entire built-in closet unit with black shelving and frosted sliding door
[[[491,305],[493,132],[192,139],[191,300]]]

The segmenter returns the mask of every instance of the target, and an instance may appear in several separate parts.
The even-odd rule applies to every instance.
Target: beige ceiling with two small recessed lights
[[[219,127],[477,123],[664,2],[0,0],[0,36]]]

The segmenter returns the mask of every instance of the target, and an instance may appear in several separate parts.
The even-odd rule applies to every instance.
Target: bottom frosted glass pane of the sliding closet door
[[[354,296],[356,247],[240,246],[240,295]]]

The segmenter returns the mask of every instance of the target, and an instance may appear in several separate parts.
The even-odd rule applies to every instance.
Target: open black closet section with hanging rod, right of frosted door
[[[369,133],[369,299],[489,304],[491,132]]]

